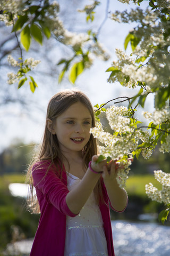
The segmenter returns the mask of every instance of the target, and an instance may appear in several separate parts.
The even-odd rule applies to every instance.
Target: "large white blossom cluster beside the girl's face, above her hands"
[[[133,124],[131,125],[128,111],[128,108],[124,106],[111,106],[106,110],[109,125],[114,130],[113,134],[105,132],[98,119],[96,127],[90,129],[94,138],[103,144],[103,146],[99,146],[99,154],[106,158],[111,157],[113,161],[120,161],[123,165],[123,169],[118,170],[118,176],[121,179],[117,178],[117,182],[120,187],[125,187],[131,164],[127,159],[132,156],[133,151],[137,150],[139,141],[151,143],[148,131],[136,129]],[[152,148],[143,148],[141,153],[147,159],[152,154]]]

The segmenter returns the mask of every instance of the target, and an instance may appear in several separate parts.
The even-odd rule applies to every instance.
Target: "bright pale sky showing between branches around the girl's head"
[[[64,9],[64,6],[62,6],[63,1],[59,2],[61,3],[62,11],[62,8]],[[94,26],[96,26],[96,29],[105,18],[106,3],[107,1],[102,1],[102,4],[98,6],[96,9],[96,23],[94,22]],[[146,3],[144,3],[144,5],[146,6]],[[112,0],[109,4],[109,10],[112,11],[131,9],[131,7],[135,7],[134,4],[131,3],[130,5],[126,5],[118,1]],[[82,19],[82,13],[80,13],[79,15]],[[86,26],[86,23],[84,24],[84,26]],[[96,105],[96,103],[99,103],[100,105],[101,103],[105,103],[108,100],[111,100],[116,97],[129,97],[134,95],[138,91],[126,89],[125,87],[122,87],[120,84],[107,83],[109,73],[105,72],[106,69],[112,65],[112,61],[116,58],[115,48],[120,48],[124,50],[124,39],[126,35],[128,35],[129,30],[131,28],[133,28],[132,24],[119,24],[113,22],[111,19],[107,19],[104,26],[101,28],[98,39],[101,43],[105,45],[106,49],[108,50],[108,53],[111,55],[111,58],[107,62],[97,59],[90,69],[84,71],[84,73],[78,77],[77,82],[74,86],[87,94],[92,105]],[[80,26],[79,22],[76,22],[74,24],[74,30],[80,32],[81,29],[82,27]],[[41,52],[42,51],[43,47]],[[127,51],[131,51],[130,47],[128,47]],[[56,63],[62,57],[62,53],[58,51],[58,46],[56,51],[51,51],[49,47],[49,50],[47,52],[42,52],[41,63],[35,69],[35,71],[43,70],[45,74],[45,70],[48,69],[48,67],[46,66],[47,63],[43,61],[44,54],[48,54],[48,57],[50,58],[52,63],[56,65]],[[3,107],[0,108],[0,151],[5,149],[12,142],[14,143],[16,139],[19,139],[24,143],[39,143],[44,132],[46,109],[50,98],[60,90],[66,88],[73,88],[73,86],[67,81],[58,85],[56,77],[46,77],[44,75],[41,75],[38,76],[36,79],[38,83],[38,89],[36,89],[36,92],[34,94],[32,94],[32,92],[29,89],[25,89],[25,87],[20,89],[21,94],[27,93],[27,97],[30,99],[30,104],[33,101],[33,105],[32,107],[30,107],[30,113],[28,113],[29,111],[25,112],[18,105],[16,105],[15,107],[11,105],[5,109]],[[152,108],[153,102],[152,98],[150,98],[146,102],[146,109],[150,110]]]

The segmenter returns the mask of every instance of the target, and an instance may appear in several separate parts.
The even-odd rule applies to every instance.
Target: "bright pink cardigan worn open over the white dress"
[[[54,165],[47,172],[49,164],[48,161],[38,162],[32,168],[33,186],[36,188],[41,215],[30,256],[64,256],[66,215],[75,217],[66,204],[65,198],[69,193],[66,173],[63,171],[62,179],[58,178]],[[58,168],[61,172],[59,165]],[[103,193],[107,204],[100,204],[100,211],[104,222],[108,255],[114,256],[105,186],[103,186]]]

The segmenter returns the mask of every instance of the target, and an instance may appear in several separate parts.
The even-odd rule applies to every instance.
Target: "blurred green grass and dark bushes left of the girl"
[[[35,236],[38,226],[39,215],[27,211],[25,199],[11,196],[8,185],[15,182],[24,182],[24,175],[0,176],[0,255],[7,243]]]

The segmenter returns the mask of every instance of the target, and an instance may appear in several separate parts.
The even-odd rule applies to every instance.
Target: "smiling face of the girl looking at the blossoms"
[[[74,103],[57,117],[53,134],[56,134],[63,153],[81,151],[90,139],[92,118],[81,102]]]

